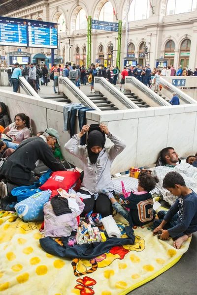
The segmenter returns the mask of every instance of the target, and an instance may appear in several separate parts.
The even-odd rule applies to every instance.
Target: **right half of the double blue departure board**
[[[58,26],[53,23],[28,21],[29,47],[58,48]]]

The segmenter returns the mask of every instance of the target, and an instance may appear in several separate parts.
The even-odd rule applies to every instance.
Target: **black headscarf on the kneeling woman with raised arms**
[[[92,152],[91,148],[93,147],[100,147],[104,148],[105,144],[105,135],[101,130],[93,130],[88,135],[88,155],[92,164],[97,162],[99,157],[99,153]]]

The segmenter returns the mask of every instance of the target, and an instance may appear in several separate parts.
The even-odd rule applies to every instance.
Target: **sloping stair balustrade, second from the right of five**
[[[132,81],[132,83],[135,84],[137,88],[140,87],[141,89],[143,89],[143,92],[146,92],[146,95],[148,95],[154,101],[158,102],[160,106],[171,106],[166,100],[161,98],[157,93],[155,93],[154,91],[149,89],[147,86],[145,86],[143,83],[138,81],[135,77],[132,77],[132,76],[126,77],[125,83],[131,83],[131,82],[128,82],[128,80]]]

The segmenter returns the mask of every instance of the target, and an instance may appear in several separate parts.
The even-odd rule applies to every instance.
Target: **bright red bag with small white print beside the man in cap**
[[[50,189],[51,191],[57,190],[58,188],[68,189],[75,186],[80,178],[80,173],[78,171],[57,171],[51,174],[51,177],[40,186],[41,190]]]

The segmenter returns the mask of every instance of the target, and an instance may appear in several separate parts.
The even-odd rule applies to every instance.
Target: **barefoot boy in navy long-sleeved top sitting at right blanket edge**
[[[171,236],[174,248],[180,249],[182,243],[197,231],[197,194],[186,186],[185,180],[177,172],[167,173],[163,186],[178,198],[169,211],[158,212],[160,219],[153,223],[153,235],[161,231],[162,240]]]

